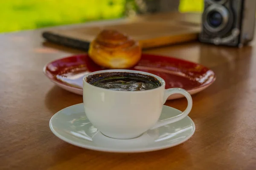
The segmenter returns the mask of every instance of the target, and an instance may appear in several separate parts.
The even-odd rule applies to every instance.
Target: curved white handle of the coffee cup
[[[189,94],[189,92],[187,92],[184,89],[180,89],[180,88],[166,89],[165,92],[164,92],[164,96],[163,96],[163,104],[166,102],[167,98],[170,95],[177,94],[177,93],[184,95],[186,97],[187,101],[188,101],[188,106],[186,107],[184,112],[180,113],[180,115],[177,115],[175,117],[168,118],[168,119],[165,119],[165,120],[162,120],[162,121],[157,121],[157,123],[153,127],[150,128],[151,130],[155,129],[157,127],[165,126],[167,124],[171,124],[171,123],[174,123],[176,121],[179,121],[179,120],[185,118],[189,114],[189,112],[192,109],[192,97]]]

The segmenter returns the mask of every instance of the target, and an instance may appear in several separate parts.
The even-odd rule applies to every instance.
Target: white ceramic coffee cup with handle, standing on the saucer
[[[116,91],[93,86],[87,77],[104,72],[130,72],[150,75],[160,81],[161,86],[143,91]],[[191,95],[184,89],[165,89],[165,81],[153,74],[135,70],[113,69],[91,72],[83,78],[84,110],[89,121],[101,133],[111,138],[136,138],[149,129],[161,127],[186,117],[192,109]],[[188,101],[184,112],[175,117],[158,121],[163,104],[175,93]]]

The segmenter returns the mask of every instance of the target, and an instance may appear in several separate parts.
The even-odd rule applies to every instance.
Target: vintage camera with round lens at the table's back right
[[[199,41],[243,46],[253,40],[256,0],[204,0]]]

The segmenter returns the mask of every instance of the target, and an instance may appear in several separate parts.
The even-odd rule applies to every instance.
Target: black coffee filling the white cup
[[[118,91],[149,90],[161,86],[160,81],[151,75],[131,72],[104,72],[89,75],[86,81],[93,86]]]

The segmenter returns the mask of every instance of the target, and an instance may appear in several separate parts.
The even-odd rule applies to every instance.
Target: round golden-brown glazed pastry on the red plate
[[[90,58],[109,69],[127,69],[141,58],[138,42],[116,30],[103,30],[90,43]]]

